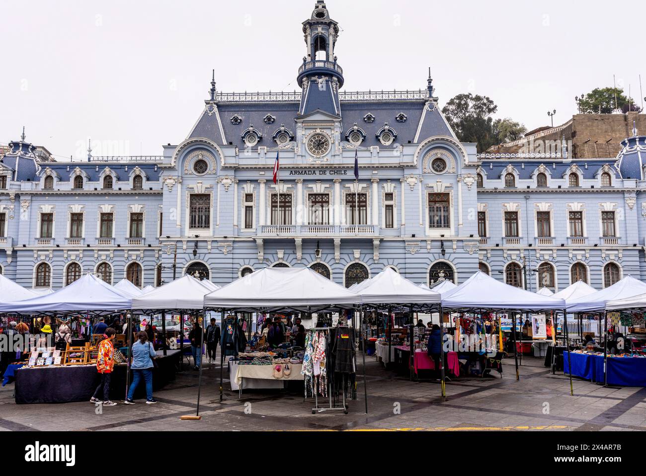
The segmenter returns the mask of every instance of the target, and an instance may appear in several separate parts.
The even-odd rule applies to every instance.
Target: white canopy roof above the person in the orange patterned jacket
[[[129,309],[130,302],[130,297],[121,294],[102,279],[86,274],[52,294],[1,303],[0,312],[65,314],[91,311],[94,314],[114,314],[118,310]]]

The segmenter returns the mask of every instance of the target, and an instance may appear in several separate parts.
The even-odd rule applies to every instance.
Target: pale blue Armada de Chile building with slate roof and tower
[[[159,157],[43,162],[24,136],[10,143],[0,271],[37,288],[86,272],[222,285],[266,266],[309,266],[347,287],[385,266],[426,285],[481,269],[531,290],[646,277],[644,136],[613,158],[479,156],[430,77],[420,91],[342,91],[339,26],[323,1],[302,31],[300,92],[212,81],[187,138]]]

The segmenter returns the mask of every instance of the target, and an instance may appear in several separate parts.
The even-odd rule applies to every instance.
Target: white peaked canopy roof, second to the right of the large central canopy
[[[461,310],[518,310],[543,311],[563,310],[565,300],[541,296],[536,292],[507,285],[482,271],[464,281],[442,296],[442,305],[447,309]]]

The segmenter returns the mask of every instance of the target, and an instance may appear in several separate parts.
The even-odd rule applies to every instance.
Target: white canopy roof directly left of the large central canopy
[[[163,310],[202,310],[204,296],[211,292],[205,281],[188,274],[152,291],[132,298],[132,308],[160,312]]]

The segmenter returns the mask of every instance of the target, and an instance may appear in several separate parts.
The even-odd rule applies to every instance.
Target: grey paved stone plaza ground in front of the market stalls
[[[366,359],[370,414],[364,413],[363,387],[359,400],[349,402],[349,414],[312,415],[311,400],[283,391],[225,390],[218,398],[219,367],[203,371],[200,421],[180,420],[194,414],[198,373],[185,370],[176,381],[155,393],[157,405],[120,404],[96,415],[92,404],[16,405],[14,384],[0,389],[0,429],[25,430],[645,430],[646,389],[605,388],[574,380],[574,396],[563,374],[550,374],[542,359],[525,358],[521,380],[514,378],[514,360],[503,365],[503,378],[473,378],[446,385],[410,382],[386,371],[375,358]],[[185,365],[185,367],[188,367]],[[358,376],[362,378],[362,376]],[[225,389],[229,388],[228,381]],[[401,414],[394,413],[399,402]],[[246,406],[245,406],[246,404]],[[251,404],[251,406],[249,406]],[[548,407],[548,410],[547,410]],[[245,408],[247,413],[245,413]],[[250,412],[250,413],[249,413]]]

